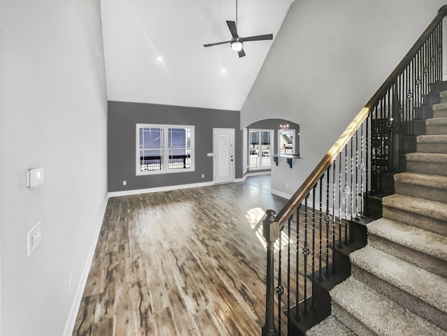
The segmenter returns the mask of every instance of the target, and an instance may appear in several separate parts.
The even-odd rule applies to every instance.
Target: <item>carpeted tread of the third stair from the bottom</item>
[[[447,279],[369,246],[349,258],[353,265],[447,314]]]

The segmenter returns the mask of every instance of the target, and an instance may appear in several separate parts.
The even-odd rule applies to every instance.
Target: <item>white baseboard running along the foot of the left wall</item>
[[[87,284],[87,277],[89,276],[89,271],[91,263],[93,262],[96,244],[98,243],[99,233],[101,232],[101,226],[103,224],[103,219],[105,215],[105,209],[107,208],[108,197],[105,198],[103,209],[101,210],[101,215],[99,216],[98,223],[96,224],[96,231],[94,233],[93,240],[91,241],[89,254],[84,264],[84,269],[78,283],[78,288],[76,288],[75,297],[71,303],[70,313],[68,314],[68,319],[65,323],[64,336],[73,335],[73,328],[75,328],[76,317],[78,316],[79,307],[81,305],[82,295],[84,294],[85,284]]]

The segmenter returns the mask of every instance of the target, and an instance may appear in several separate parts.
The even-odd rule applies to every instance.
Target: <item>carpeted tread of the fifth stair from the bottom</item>
[[[382,198],[383,206],[394,207],[406,212],[421,214],[441,221],[447,221],[447,204],[423,198],[403,196],[398,193]],[[447,225],[447,223],[446,223]]]

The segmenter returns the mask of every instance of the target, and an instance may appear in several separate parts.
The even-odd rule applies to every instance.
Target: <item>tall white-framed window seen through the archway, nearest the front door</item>
[[[249,139],[249,169],[270,168],[273,131],[269,129],[251,129]]]

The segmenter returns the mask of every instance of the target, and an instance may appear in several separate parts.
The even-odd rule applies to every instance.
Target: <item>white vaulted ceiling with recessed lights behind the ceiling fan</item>
[[[275,38],[292,2],[238,0],[238,33]],[[242,58],[229,44],[204,48],[230,40],[235,7],[235,0],[101,0],[108,100],[240,110],[273,42],[244,43]]]

